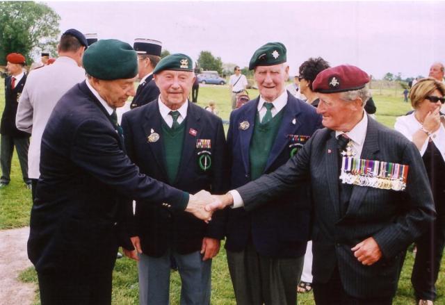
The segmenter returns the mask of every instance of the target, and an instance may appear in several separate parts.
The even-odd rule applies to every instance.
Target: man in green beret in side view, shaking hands
[[[133,48],[99,40],[85,52],[83,67],[88,79],[60,98],[42,135],[28,240],[42,305],[111,304],[116,252],[119,245],[133,248],[125,235],[131,224],[123,221],[133,211],[122,199],[210,216],[199,196],[141,174],[124,152],[115,108],[134,94]]]

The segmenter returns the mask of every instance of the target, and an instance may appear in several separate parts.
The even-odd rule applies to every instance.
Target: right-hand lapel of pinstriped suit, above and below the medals
[[[368,127],[360,158],[375,160],[375,154],[378,151],[378,126],[374,119],[368,116]],[[369,187],[365,186],[353,186],[353,192],[350,195],[349,206],[345,216],[355,214],[359,210],[368,189]]]

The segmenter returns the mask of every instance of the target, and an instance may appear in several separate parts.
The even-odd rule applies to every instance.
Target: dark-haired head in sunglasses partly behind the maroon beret
[[[314,107],[318,106],[318,97],[316,92],[312,91],[312,82],[316,79],[318,73],[330,67],[329,63],[321,57],[309,58],[300,65],[300,91],[305,94],[307,103]]]

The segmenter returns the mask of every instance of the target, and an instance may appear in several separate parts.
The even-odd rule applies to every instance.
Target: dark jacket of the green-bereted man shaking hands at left
[[[111,272],[122,197],[184,210],[184,192],[140,174],[85,82],[63,95],[42,136],[28,255],[38,272]],[[127,243],[121,244],[132,249]]]

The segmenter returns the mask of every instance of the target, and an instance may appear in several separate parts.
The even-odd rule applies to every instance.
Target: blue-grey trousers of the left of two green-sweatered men
[[[161,257],[139,255],[139,304],[168,305],[170,254],[181,277],[181,305],[209,305],[211,260],[202,261],[200,252],[177,254],[168,251]]]

